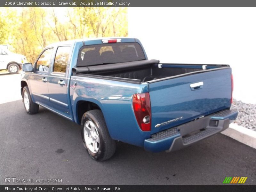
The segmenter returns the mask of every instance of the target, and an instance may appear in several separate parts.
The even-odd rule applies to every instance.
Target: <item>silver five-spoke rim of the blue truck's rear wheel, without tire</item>
[[[84,141],[88,150],[97,153],[100,148],[100,137],[97,126],[92,121],[86,121],[84,124]]]

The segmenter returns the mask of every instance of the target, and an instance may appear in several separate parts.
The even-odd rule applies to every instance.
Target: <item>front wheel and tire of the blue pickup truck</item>
[[[25,110],[28,114],[32,115],[32,114],[38,113],[39,106],[32,101],[29,90],[28,90],[28,86],[25,86],[23,88],[22,98],[23,98],[23,104],[24,104]]]

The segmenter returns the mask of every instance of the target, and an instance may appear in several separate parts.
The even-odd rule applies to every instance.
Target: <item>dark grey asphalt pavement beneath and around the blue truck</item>
[[[9,83],[13,89],[16,76]],[[0,82],[11,77],[0,75]],[[13,98],[0,85],[0,100]],[[96,162],[84,149],[79,125],[42,107],[28,115],[21,100],[0,104],[0,185],[223,185],[225,177],[248,177],[245,184],[255,185],[256,149],[217,134],[172,153],[120,142],[111,159]],[[6,183],[5,178],[41,181]]]

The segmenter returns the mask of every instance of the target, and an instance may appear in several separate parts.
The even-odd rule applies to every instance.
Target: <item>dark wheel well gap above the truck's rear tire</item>
[[[93,109],[100,109],[100,107],[90,101],[78,101],[76,104],[76,112],[79,123],[81,122],[84,113]]]

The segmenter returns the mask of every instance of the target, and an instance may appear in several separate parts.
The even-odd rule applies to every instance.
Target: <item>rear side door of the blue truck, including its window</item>
[[[70,46],[59,46],[49,76],[50,102],[55,111],[71,118],[68,108],[68,65]]]

